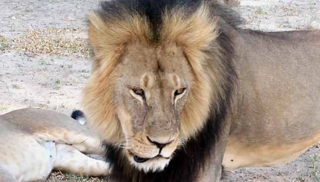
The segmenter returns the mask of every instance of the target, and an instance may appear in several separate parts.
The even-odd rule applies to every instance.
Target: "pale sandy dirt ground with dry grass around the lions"
[[[0,114],[79,109],[90,74],[86,13],[99,0],[0,0]],[[244,28],[320,29],[320,0],[241,0]],[[81,108],[80,108],[81,109]],[[275,168],[243,168],[230,182],[320,182],[320,148]],[[55,172],[50,182],[102,182]]]

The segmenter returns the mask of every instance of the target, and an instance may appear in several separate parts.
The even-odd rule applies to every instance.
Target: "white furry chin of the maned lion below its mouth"
[[[156,156],[150,158],[144,162],[136,162],[134,156],[128,156],[130,164],[140,171],[145,173],[149,172],[161,172],[169,164],[171,158],[164,158]]]

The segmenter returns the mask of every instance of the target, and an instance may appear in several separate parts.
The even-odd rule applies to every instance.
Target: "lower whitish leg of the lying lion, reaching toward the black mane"
[[[56,150],[54,170],[85,176],[105,176],[110,174],[109,163],[90,158],[74,147],[57,144]]]

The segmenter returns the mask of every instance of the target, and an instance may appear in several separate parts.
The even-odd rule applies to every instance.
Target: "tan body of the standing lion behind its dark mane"
[[[235,46],[238,112],[224,166],[285,164],[320,140],[320,30],[239,30]]]

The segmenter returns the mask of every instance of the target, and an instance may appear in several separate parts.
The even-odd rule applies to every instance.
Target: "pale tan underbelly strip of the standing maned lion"
[[[265,145],[245,143],[236,137],[229,138],[224,153],[223,165],[227,170],[240,167],[272,167],[288,163],[320,140],[320,134],[312,138],[296,141],[294,144]]]

